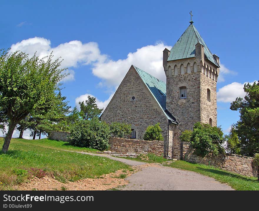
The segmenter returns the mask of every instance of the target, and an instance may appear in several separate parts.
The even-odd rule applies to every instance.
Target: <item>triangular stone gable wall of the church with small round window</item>
[[[133,100],[132,97],[135,99]],[[167,143],[168,119],[134,67],[129,69],[104,110],[101,120],[107,123],[125,122],[132,124],[132,129],[136,131],[136,139],[143,139],[147,126],[159,122],[164,141]]]

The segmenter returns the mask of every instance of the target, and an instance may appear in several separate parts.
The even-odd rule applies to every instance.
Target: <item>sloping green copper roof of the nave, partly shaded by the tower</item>
[[[166,109],[166,84],[163,81],[151,76],[149,73],[137,68],[136,66],[132,65],[137,73],[139,74],[142,81],[147,86],[150,93],[153,95],[155,100],[157,101],[158,105],[166,115],[166,117],[171,120],[173,123],[176,123],[176,119],[173,115],[167,111]]]

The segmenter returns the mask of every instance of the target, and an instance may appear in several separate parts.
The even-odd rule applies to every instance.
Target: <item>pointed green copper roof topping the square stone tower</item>
[[[219,67],[219,64],[212,56],[212,53],[210,52],[206,43],[200,36],[197,29],[192,24],[190,24],[190,26],[185,30],[182,36],[172,47],[167,61],[195,57],[195,45],[197,43],[200,43],[204,46],[205,58],[207,58],[208,60],[210,60],[212,63],[214,63],[216,66]]]

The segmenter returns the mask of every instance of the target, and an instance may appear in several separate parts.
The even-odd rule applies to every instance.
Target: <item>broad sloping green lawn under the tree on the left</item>
[[[3,144],[2,138],[0,143]],[[59,141],[12,139],[9,150],[0,153],[0,190],[11,190],[13,185],[26,181],[31,177],[30,168],[39,169],[40,173],[54,176],[60,182],[96,178],[119,169],[130,169],[128,165],[109,158],[60,150],[71,150],[71,146],[65,147]]]

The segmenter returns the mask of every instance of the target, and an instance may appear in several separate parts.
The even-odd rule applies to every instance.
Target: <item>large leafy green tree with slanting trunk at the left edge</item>
[[[53,55],[31,58],[21,51],[0,51],[0,106],[9,121],[2,148],[9,148],[17,124],[34,110],[50,110],[55,100],[59,81],[66,76],[59,69],[61,61],[52,61]]]

